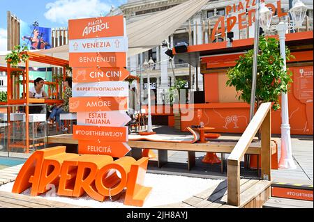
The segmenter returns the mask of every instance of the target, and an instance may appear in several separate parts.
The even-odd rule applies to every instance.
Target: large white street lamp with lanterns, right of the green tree
[[[281,57],[284,62],[284,71],[287,70],[285,60],[285,33],[287,32],[287,29],[295,29],[302,26],[304,18],[306,17],[306,10],[307,7],[304,3],[297,0],[297,2],[294,3],[294,6],[290,9],[292,25],[285,22],[279,22],[279,24],[275,27],[279,35]],[[269,30],[271,25],[271,15],[271,10],[269,10],[269,8],[267,8],[263,3],[262,8],[260,9],[260,24],[264,31]],[[284,92],[281,92],[281,109],[281,159],[279,160],[278,165],[280,168],[294,169],[297,168],[297,166],[295,166],[292,158],[287,93]]]

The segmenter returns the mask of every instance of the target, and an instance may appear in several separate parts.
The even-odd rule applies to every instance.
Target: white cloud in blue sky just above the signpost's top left
[[[110,11],[110,5],[99,0],[57,0],[46,4],[46,19],[67,24],[68,19],[98,17]]]

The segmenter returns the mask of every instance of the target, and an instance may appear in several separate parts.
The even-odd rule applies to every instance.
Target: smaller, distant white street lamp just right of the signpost
[[[154,61],[153,59],[147,60],[145,59],[143,63],[143,68],[145,72],[147,73],[147,134],[155,134],[156,132],[153,132],[153,127],[151,124],[151,81],[149,79],[149,72],[154,69]],[[149,72],[147,72],[149,70]]]

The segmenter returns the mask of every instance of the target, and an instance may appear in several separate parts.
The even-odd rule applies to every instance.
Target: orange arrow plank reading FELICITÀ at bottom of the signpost
[[[128,143],[110,141],[81,141],[78,143],[79,154],[101,154],[111,157],[124,157],[131,148]]]

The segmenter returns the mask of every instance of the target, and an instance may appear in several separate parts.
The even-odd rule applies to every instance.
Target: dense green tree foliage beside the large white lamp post
[[[280,109],[279,96],[281,91],[287,93],[291,74],[283,70],[284,61],[281,58],[279,41],[275,38],[260,37],[259,53],[257,55],[257,78],[255,102],[257,108],[262,102],[272,102],[273,109]],[[240,56],[237,65],[228,70],[226,85],[234,86],[239,100],[251,102],[253,49]],[[286,59],[293,58],[290,49],[285,49]]]

